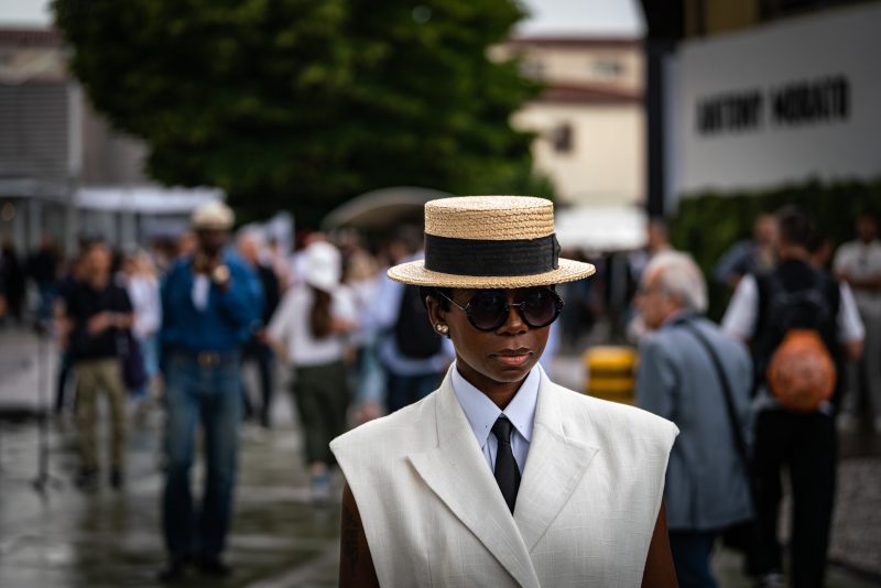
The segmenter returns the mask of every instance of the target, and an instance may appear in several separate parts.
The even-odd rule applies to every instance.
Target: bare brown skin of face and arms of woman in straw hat
[[[453,300],[465,306],[474,295],[472,290],[454,290]],[[509,304],[516,302],[516,291],[508,290]],[[530,370],[539,362],[550,327],[530,328],[515,308],[498,329],[476,329],[468,317],[455,306],[444,309],[428,298],[428,317],[433,325],[447,325],[449,338],[456,349],[456,367],[475,388],[483,392],[497,406],[504,409],[520,390]],[[339,563],[340,587],[379,586],[370,546],[367,542],[361,515],[348,484],[342,490],[342,522]],[[670,551],[664,504],[657,513],[654,532],[645,558],[642,586],[670,588],[677,586],[673,555]]]

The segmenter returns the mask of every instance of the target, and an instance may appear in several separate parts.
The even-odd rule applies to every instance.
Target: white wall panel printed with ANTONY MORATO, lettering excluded
[[[667,121],[677,145],[667,157],[674,195],[881,176],[881,6],[688,42],[677,61],[676,112]],[[825,95],[830,116],[781,122],[773,98],[793,84],[837,88]],[[842,88],[844,112],[835,109]],[[753,124],[700,132],[699,105],[750,94],[761,100]]]

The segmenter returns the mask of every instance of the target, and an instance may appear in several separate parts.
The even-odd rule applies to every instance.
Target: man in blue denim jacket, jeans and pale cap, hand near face
[[[210,203],[193,214],[198,247],[177,261],[162,288],[163,371],[167,409],[162,523],[168,565],[162,581],[180,579],[191,563],[227,576],[222,562],[232,515],[241,422],[241,350],[260,328],[263,301],[250,268],[225,250],[232,210]],[[207,471],[200,508],[189,489],[195,433],[205,432]]]

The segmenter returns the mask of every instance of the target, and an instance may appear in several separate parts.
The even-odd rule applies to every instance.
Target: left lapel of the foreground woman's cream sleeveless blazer
[[[449,375],[440,385],[436,406],[438,446],[411,454],[410,462],[521,586],[537,588],[529,551],[453,392]]]

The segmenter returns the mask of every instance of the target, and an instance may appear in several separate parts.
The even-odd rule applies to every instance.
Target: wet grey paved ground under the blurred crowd
[[[106,479],[93,493],[73,486],[77,467],[73,427],[67,421],[52,422],[46,428],[51,477],[44,491],[37,491],[33,481],[39,473],[40,428],[28,415],[41,406],[37,384],[47,391],[52,386],[51,353],[47,344],[30,334],[0,333],[0,586],[156,586],[155,573],[164,559],[159,520],[162,414],[153,409],[132,418],[128,478],[121,492],[111,490]],[[39,373],[40,366],[46,367],[45,373]],[[581,388],[578,358],[563,358],[555,371],[561,383]],[[236,516],[227,551],[232,577],[218,581],[192,574],[181,586],[336,585],[339,507],[311,503],[286,394],[276,394],[273,416],[272,431],[251,426],[242,431]],[[842,442],[846,458],[830,549],[838,565],[830,569],[827,586],[881,586],[879,438],[848,435]],[[194,473],[197,482],[202,470]],[[720,586],[749,586],[739,565],[731,552],[717,553]]]

